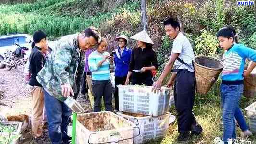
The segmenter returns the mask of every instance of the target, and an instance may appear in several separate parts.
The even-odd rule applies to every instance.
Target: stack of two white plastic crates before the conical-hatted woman
[[[134,131],[134,144],[143,144],[152,139],[163,138],[175,116],[168,113],[174,102],[171,88],[162,87],[161,92],[152,92],[152,86],[118,85],[118,115],[139,127]]]

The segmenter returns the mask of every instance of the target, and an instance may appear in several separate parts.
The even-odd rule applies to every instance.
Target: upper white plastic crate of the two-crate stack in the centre
[[[162,92],[151,92],[152,86],[117,85],[119,110],[148,116],[160,116],[168,112],[171,88],[162,87]]]

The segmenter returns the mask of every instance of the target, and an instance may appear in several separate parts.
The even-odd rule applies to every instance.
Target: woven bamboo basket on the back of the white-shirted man
[[[193,60],[196,78],[196,91],[207,94],[223,70],[223,63],[209,56],[197,56]]]

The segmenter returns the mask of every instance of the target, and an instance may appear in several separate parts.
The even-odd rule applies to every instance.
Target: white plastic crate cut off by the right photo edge
[[[256,102],[245,108],[246,114],[249,117],[250,131],[256,133]]]

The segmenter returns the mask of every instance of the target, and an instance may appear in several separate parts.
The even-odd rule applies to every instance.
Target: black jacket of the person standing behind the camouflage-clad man
[[[41,48],[35,46],[32,49],[29,62],[29,71],[31,73],[29,85],[42,87],[42,85],[39,84],[36,79],[37,73],[43,68],[46,62],[46,56],[42,53]]]

